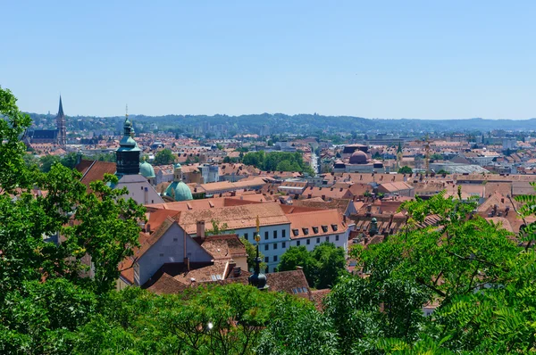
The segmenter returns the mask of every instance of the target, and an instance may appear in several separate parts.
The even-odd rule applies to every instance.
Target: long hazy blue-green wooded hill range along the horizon
[[[41,119],[47,117],[36,113],[30,113],[32,118]],[[321,130],[331,132],[354,132],[354,131],[380,131],[380,132],[463,132],[463,131],[490,131],[493,129],[504,130],[534,130],[536,119],[531,120],[381,120],[364,119],[352,116],[323,116],[319,114],[287,115],[284,113],[262,113],[240,116],[228,115],[165,115],[147,116],[130,115],[132,120],[145,123],[156,123],[159,129],[184,129],[188,127],[202,127],[205,122],[213,128],[224,128],[237,132],[258,133],[261,128],[267,126],[272,133],[314,133]],[[68,117],[68,120],[82,120],[84,122],[102,121],[117,122],[122,117]]]

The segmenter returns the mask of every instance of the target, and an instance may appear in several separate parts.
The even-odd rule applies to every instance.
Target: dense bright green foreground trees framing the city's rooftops
[[[138,287],[117,292],[118,264],[138,246],[145,209],[122,199],[125,190],[106,185],[113,176],[92,183],[88,194],[76,170],[59,163],[48,172],[28,167],[19,136],[30,119],[2,88],[0,115],[0,353],[536,351],[531,219],[515,239],[474,215],[474,203],[459,196],[404,202],[408,218],[400,233],[353,247],[364,277],[340,276],[321,310],[305,299],[247,285],[169,295]],[[33,195],[34,187],[47,194]],[[516,199],[523,203],[516,212],[532,218],[536,195]],[[422,227],[430,214],[440,222]],[[58,232],[63,243],[51,243]],[[299,263],[315,269],[314,260]],[[310,277],[322,275],[314,271]],[[423,305],[437,307],[426,317]]]

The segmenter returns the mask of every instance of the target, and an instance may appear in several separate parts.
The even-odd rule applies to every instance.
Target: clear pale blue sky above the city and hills
[[[67,115],[536,117],[535,1],[4,1],[0,86]]]

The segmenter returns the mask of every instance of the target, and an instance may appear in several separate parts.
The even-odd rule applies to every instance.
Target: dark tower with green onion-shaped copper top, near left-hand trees
[[[116,175],[138,175],[139,174],[139,154],[141,150],[134,140],[134,129],[129,120],[129,114],[126,114],[125,123],[123,124],[123,137],[119,143],[120,147],[115,153],[117,162]]]

